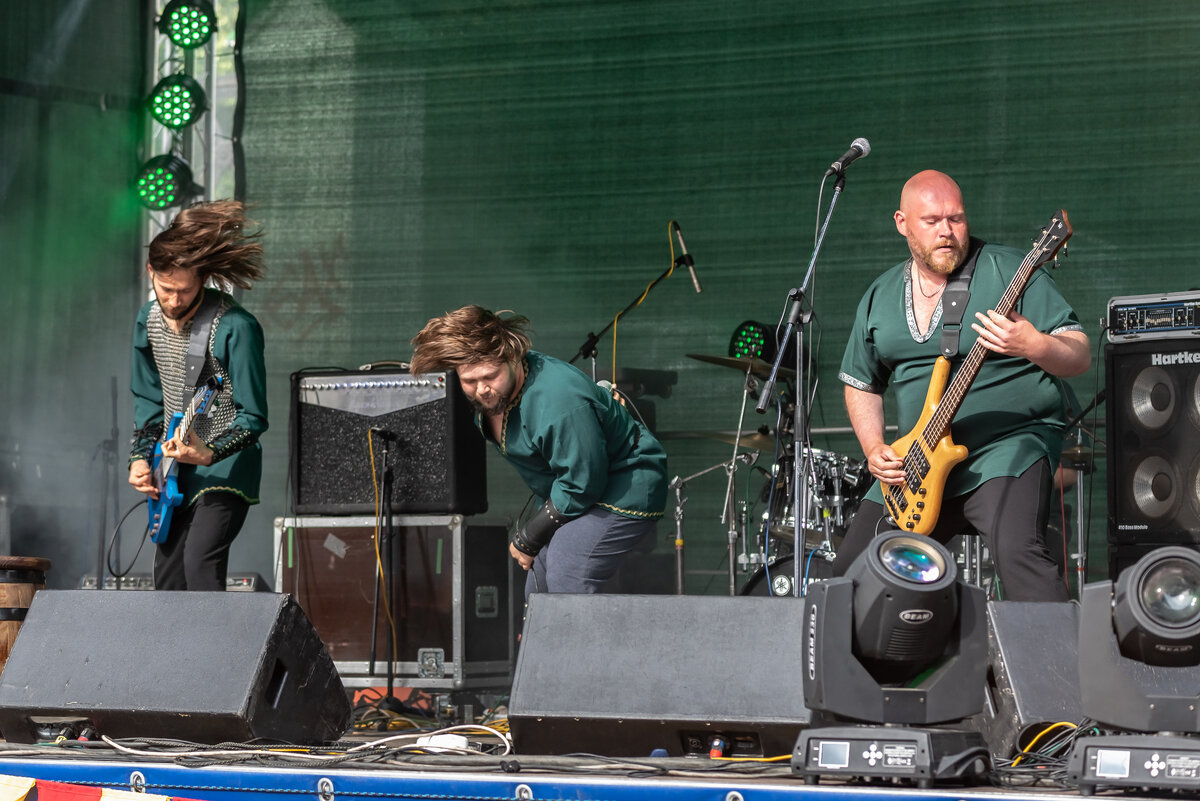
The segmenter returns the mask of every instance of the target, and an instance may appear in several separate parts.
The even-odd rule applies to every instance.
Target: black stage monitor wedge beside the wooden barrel
[[[74,719],[114,739],[317,745],[350,712],[308,618],[274,592],[42,590],[0,674],[8,742]]]

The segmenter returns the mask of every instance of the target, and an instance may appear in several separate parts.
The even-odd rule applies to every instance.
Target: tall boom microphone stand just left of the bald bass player
[[[804,295],[808,291],[809,282],[812,279],[812,272],[816,269],[817,257],[821,253],[821,246],[824,243],[826,231],[829,230],[829,221],[833,218],[834,207],[838,205],[838,198],[841,195],[842,188],[846,186],[846,171],[838,170],[835,173],[838,180],[833,185],[833,198],[829,200],[829,209],[826,211],[826,218],[821,223],[821,230],[817,234],[816,245],[812,248],[812,257],[809,259],[809,269],[804,273],[804,281],[800,283],[799,288],[790,289],[787,291],[787,297],[792,301],[792,308],[787,314],[787,327],[784,329],[784,336],[779,338],[782,345],[775,354],[775,361],[770,366],[770,375],[767,378],[767,383],[762,387],[762,392],[758,396],[758,403],[755,406],[755,411],[760,415],[767,411],[767,406],[770,405],[770,397],[775,393],[775,381],[779,378],[779,367],[784,361],[784,355],[787,353],[787,342],[796,332],[796,404],[794,404],[794,418],[793,418],[793,440],[792,440],[792,459],[794,459],[792,469],[792,510],[793,510],[793,531],[792,531],[792,553],[794,558],[792,559],[792,595],[799,597],[803,595],[804,585],[800,583],[803,578],[803,564],[804,564],[804,532],[802,530],[803,518],[808,513],[809,508],[809,476],[811,475],[811,448],[808,447],[809,441],[809,424],[808,424],[808,397],[806,397],[806,381],[804,373],[804,329],[809,325],[812,319],[812,309],[804,309]],[[769,578],[769,577],[768,577]]]

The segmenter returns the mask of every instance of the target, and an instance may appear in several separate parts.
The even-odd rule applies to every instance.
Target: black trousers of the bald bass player
[[[944,499],[931,536],[946,544],[974,529],[988,543],[1006,601],[1067,601],[1067,586],[1045,543],[1052,476],[1050,460],[1040,459],[1015,478],[992,478],[966,495]],[[844,576],[871,540],[894,530],[883,506],[864,500],[838,547],[833,574]]]

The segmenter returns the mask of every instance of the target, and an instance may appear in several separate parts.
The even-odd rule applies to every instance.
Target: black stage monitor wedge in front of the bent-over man
[[[791,753],[809,723],[793,598],[529,597],[509,723],[520,753]]]

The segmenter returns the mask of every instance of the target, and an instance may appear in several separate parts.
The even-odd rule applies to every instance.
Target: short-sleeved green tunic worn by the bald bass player
[[[985,245],[971,277],[971,299],[962,317],[960,357],[954,371],[976,342],[971,324],[976,312],[995,308],[1016,275],[1025,254],[1015,248]],[[912,305],[908,263],[892,267],[870,285],[858,305],[854,326],[841,361],[839,378],[852,387],[882,395],[895,390],[900,439],[912,430],[925,406],[930,375],[942,338],[942,306],[929,331],[917,331]],[[1042,267],[1033,272],[1016,311],[1044,333],[1081,330],[1050,275]],[[971,492],[998,476],[1018,476],[1030,465],[1049,457],[1058,458],[1066,424],[1061,384],[1026,359],[990,353],[950,423],[950,436],[967,447],[966,460],[955,465],[946,486],[946,496]],[[882,502],[878,482],[868,498]]]

